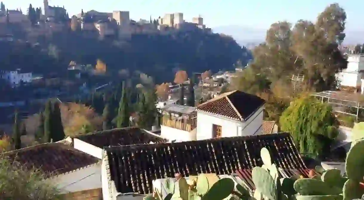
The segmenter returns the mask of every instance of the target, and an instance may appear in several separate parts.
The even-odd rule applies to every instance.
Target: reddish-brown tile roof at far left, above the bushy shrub
[[[74,149],[65,143],[44,143],[10,151],[4,156],[26,168],[40,169],[48,175],[59,175],[97,163],[100,159]]]

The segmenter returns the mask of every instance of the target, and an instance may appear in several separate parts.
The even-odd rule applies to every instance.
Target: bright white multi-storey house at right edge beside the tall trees
[[[360,90],[364,74],[364,55],[347,55],[348,67],[337,74],[342,87]]]

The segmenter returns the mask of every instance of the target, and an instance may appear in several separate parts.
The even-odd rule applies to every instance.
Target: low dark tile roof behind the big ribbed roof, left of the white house
[[[99,148],[131,144],[149,144],[150,142],[166,142],[166,140],[161,137],[152,135],[143,129],[136,127],[115,128],[107,131],[86,133],[75,136],[74,138]]]

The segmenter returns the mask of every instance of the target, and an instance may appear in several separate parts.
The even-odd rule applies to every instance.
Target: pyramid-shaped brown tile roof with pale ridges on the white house
[[[223,93],[198,105],[196,110],[233,120],[246,121],[264,103],[264,99],[258,96],[236,90]]]

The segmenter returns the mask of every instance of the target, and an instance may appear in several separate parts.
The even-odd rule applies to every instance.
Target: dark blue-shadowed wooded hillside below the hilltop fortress
[[[140,71],[155,78],[156,83],[173,81],[178,69],[188,73],[203,72],[211,69],[233,69],[233,64],[241,60],[245,64],[250,58],[250,51],[241,47],[229,36],[196,30],[177,32],[172,35],[133,35],[128,41],[98,40],[85,37],[80,32],[62,32],[51,40],[39,40],[40,46],[20,45],[21,49],[4,51],[3,57],[8,62],[3,68],[28,68],[44,73],[60,72],[71,60],[79,64],[96,64],[100,59],[107,65],[107,74],[117,78],[122,69],[130,73]],[[18,46],[10,45],[10,46]],[[8,45],[9,46],[9,45]],[[25,47],[23,47],[25,46]],[[12,49],[12,47],[7,47]],[[29,49],[31,48],[31,49]],[[37,48],[41,48],[40,50]],[[34,51],[29,64],[29,51]],[[37,55],[43,57],[38,58]],[[11,59],[11,58],[17,59]],[[50,64],[57,61],[57,64]],[[14,65],[16,63],[16,65]],[[59,69],[62,65],[63,69]],[[52,66],[52,67],[50,67]]]

